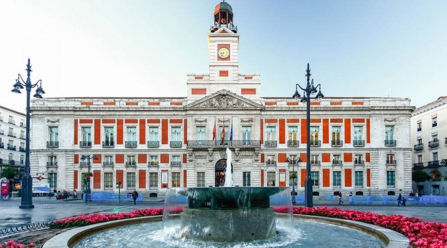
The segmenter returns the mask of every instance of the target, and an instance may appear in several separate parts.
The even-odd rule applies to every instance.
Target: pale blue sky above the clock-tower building
[[[25,73],[45,97],[186,96],[186,74],[208,72],[207,34],[219,0],[0,2],[0,105]],[[228,0],[241,35],[240,73],[262,96],[291,96],[310,63],[326,96],[447,95],[445,0]]]

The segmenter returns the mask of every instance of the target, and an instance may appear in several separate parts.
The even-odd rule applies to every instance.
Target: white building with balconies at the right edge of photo
[[[447,96],[417,108],[411,115],[413,169],[433,177],[414,190],[419,194],[447,194]],[[444,161],[443,161],[444,160]]]

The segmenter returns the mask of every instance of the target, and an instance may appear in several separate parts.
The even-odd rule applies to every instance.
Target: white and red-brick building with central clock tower
[[[307,159],[315,194],[411,191],[409,99],[312,99],[307,158],[305,105],[261,97],[260,76],[238,71],[232,17],[228,3],[216,6],[208,34],[210,72],[188,74],[187,97],[34,99],[31,173],[55,178],[59,190],[81,190],[88,167],[80,157],[96,155],[92,191],[118,191],[119,180],[124,190],[143,193],[220,186],[229,147],[236,186],[292,186],[286,158],[299,156],[301,193]],[[291,82],[290,95],[294,90]]]

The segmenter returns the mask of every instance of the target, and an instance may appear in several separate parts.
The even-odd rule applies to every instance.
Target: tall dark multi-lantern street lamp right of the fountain
[[[298,87],[303,90],[303,95],[301,98],[301,103],[306,103],[306,134],[307,134],[307,162],[306,162],[306,184],[305,184],[305,191],[304,191],[304,205],[306,207],[313,207],[313,198],[312,198],[312,179],[310,178],[310,95],[313,95],[318,93],[315,96],[317,99],[323,98],[323,94],[321,93],[321,85],[318,84],[317,86],[313,86],[313,79],[312,82],[310,82],[310,68],[309,63],[307,63],[307,69],[306,69],[306,78],[307,78],[307,84],[305,88],[302,88],[299,86],[299,84],[296,84],[295,93],[292,96],[295,99],[298,99],[301,97],[298,93]]]

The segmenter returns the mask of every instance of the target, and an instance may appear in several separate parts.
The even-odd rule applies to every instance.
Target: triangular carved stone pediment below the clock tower
[[[228,90],[220,90],[185,106],[185,109],[263,109],[264,106]]]

